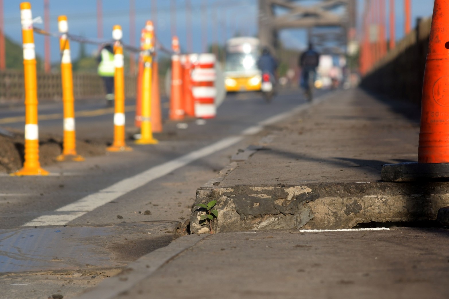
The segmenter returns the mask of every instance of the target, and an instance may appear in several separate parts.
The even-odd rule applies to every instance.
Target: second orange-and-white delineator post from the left
[[[59,39],[61,49],[61,80],[62,80],[62,103],[64,104],[64,140],[62,154],[57,156],[57,161],[70,158],[73,161],[84,161],[84,158],[76,153],[75,137],[75,107],[73,97],[72,62],[70,58],[70,42],[67,39],[69,26],[66,16],[59,16],[58,29],[62,33]]]

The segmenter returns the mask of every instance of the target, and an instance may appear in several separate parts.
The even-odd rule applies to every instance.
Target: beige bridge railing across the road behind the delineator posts
[[[44,100],[62,100],[61,74],[37,74],[38,98]],[[104,98],[104,83],[97,74],[73,74],[73,92],[75,99]],[[126,97],[136,96],[136,76],[125,76]],[[22,70],[0,71],[0,102],[14,103],[25,99]]]

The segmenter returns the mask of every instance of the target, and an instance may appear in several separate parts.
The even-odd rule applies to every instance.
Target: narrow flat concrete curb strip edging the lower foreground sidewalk
[[[180,253],[195,246],[202,239],[209,236],[193,234],[180,237],[168,246],[142,256],[129,264],[118,275],[106,278],[96,287],[76,297],[76,299],[112,299],[119,295],[126,295],[128,290],[150,277],[164,264],[176,259]]]

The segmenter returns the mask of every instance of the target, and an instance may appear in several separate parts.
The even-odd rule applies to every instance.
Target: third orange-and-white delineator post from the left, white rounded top
[[[115,90],[115,109],[114,109],[114,142],[107,151],[121,152],[132,151],[132,148],[125,144],[125,77],[124,77],[124,59],[123,46],[120,40],[123,37],[122,27],[114,25],[112,38],[114,42],[114,90]]]

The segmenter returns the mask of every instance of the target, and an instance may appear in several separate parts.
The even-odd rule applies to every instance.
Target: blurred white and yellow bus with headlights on
[[[255,37],[234,37],[226,42],[226,91],[260,90],[262,78],[257,68],[259,53],[260,41]]]

